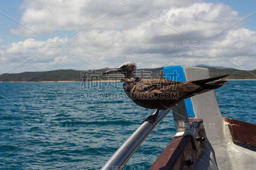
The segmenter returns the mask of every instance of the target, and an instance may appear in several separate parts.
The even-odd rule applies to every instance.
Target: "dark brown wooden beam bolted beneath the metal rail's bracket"
[[[190,124],[196,124],[199,136],[206,138],[205,131],[201,128],[201,125],[203,124],[202,119],[189,118],[189,122]],[[207,138],[204,142],[200,142],[198,148],[195,149],[192,137],[186,136],[173,138],[150,167],[150,170],[192,170],[194,169],[206,143]],[[188,160],[193,160],[194,164],[188,165]]]

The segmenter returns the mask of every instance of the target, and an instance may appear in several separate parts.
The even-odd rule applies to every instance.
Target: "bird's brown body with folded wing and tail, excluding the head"
[[[227,84],[227,81],[224,81],[224,79],[218,80],[226,76],[185,82],[164,79],[142,79],[133,84],[131,90],[126,91],[126,93],[130,93],[130,98],[141,107],[165,110],[177,105],[184,99]],[[218,81],[211,82],[214,80]]]

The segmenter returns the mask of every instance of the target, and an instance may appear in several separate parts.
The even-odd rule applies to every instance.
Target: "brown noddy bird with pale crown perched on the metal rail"
[[[166,79],[140,79],[135,75],[136,70],[135,63],[126,62],[103,74],[123,73],[124,78],[121,79],[121,82],[124,82],[123,87],[127,96],[141,107],[157,109],[154,115],[148,116],[143,122],[156,122],[159,110],[169,109],[184,99],[209,92],[229,83],[225,81],[225,77],[229,75],[183,82]]]

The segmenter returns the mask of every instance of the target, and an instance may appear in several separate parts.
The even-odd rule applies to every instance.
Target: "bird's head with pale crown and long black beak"
[[[135,63],[126,62],[115,69],[106,71],[103,74],[122,73],[125,75],[125,77],[132,78],[133,75],[136,73],[136,70],[137,70],[137,66]]]

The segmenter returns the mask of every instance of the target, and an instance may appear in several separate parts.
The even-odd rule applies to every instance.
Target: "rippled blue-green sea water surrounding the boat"
[[[256,81],[230,82],[215,90],[222,115],[256,124]],[[100,169],[155,111],[115,83],[0,83],[0,169]],[[169,113],[125,168],[148,169],[175,133]]]

